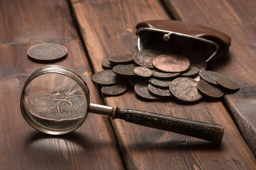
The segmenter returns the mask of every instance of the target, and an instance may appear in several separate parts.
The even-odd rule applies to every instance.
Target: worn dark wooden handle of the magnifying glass
[[[136,110],[115,109],[113,119],[220,143],[224,126]]]

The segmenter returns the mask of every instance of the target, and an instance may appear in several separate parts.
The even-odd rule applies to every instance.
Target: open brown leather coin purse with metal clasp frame
[[[229,51],[231,38],[215,29],[175,20],[151,20],[138,23],[138,49],[162,53],[200,51],[206,62]]]

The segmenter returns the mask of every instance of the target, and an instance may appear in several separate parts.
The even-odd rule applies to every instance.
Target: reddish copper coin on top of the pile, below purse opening
[[[189,68],[190,62],[189,59],[184,56],[162,54],[154,59],[153,65],[161,71],[177,73],[186,71]]]

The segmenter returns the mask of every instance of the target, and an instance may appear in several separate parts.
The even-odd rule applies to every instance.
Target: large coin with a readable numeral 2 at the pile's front
[[[170,84],[170,91],[177,99],[185,102],[194,102],[203,97],[198,92],[197,82],[188,77],[174,79]]]

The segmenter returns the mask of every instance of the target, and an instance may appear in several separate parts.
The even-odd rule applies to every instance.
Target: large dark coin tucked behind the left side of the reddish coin
[[[155,57],[161,55],[160,52],[154,50],[141,50],[134,54],[133,59],[138,65],[147,67],[147,68],[154,68],[152,62]]]

